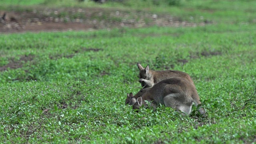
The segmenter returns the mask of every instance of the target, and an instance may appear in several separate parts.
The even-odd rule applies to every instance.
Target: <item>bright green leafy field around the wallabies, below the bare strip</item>
[[[244,14],[247,1],[235,2]],[[255,143],[253,13],[225,23],[216,12],[197,27],[1,34],[0,142]],[[207,117],[195,106],[190,116],[124,106],[141,88],[137,62],[190,74]]]

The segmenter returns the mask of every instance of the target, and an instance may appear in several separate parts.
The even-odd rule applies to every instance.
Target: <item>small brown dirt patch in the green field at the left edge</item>
[[[5,66],[0,66],[0,71],[6,71],[8,68],[17,69],[22,68],[24,62],[29,62],[34,59],[34,55],[21,56],[20,60],[15,61],[13,58]]]

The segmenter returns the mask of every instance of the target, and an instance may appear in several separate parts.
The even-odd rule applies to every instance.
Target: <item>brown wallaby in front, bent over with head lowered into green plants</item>
[[[163,104],[167,107],[176,108],[188,115],[191,113],[193,102],[196,106],[201,103],[196,88],[184,78],[162,80],[137,99],[132,94],[129,94],[129,96],[129,103],[133,105],[133,109],[139,109],[142,105],[147,108],[148,104],[145,102],[147,100],[150,102],[150,107],[154,109],[159,104]],[[205,114],[203,108],[198,109],[198,111],[202,115]]]

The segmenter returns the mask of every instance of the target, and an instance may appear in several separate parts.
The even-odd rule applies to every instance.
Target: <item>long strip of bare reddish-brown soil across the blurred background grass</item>
[[[1,32],[93,30],[147,26],[204,26],[211,21],[191,23],[168,14],[118,11],[106,8],[34,9],[24,12],[0,11]]]

